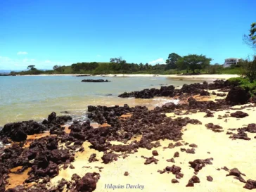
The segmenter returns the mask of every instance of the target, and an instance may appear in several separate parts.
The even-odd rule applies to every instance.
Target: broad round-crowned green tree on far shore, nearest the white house
[[[211,58],[206,58],[203,55],[189,54],[188,56],[184,56],[183,58],[179,58],[177,60],[177,66],[180,70],[192,70],[195,73],[195,70],[205,69],[208,65],[210,65]]]

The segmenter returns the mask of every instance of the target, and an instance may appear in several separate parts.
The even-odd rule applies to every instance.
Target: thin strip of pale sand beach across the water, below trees
[[[55,75],[19,75],[19,76],[77,76],[88,74],[55,74]],[[153,75],[153,74],[108,74],[108,75],[91,75],[85,77],[170,77],[173,79],[229,79],[239,77],[239,75]]]

